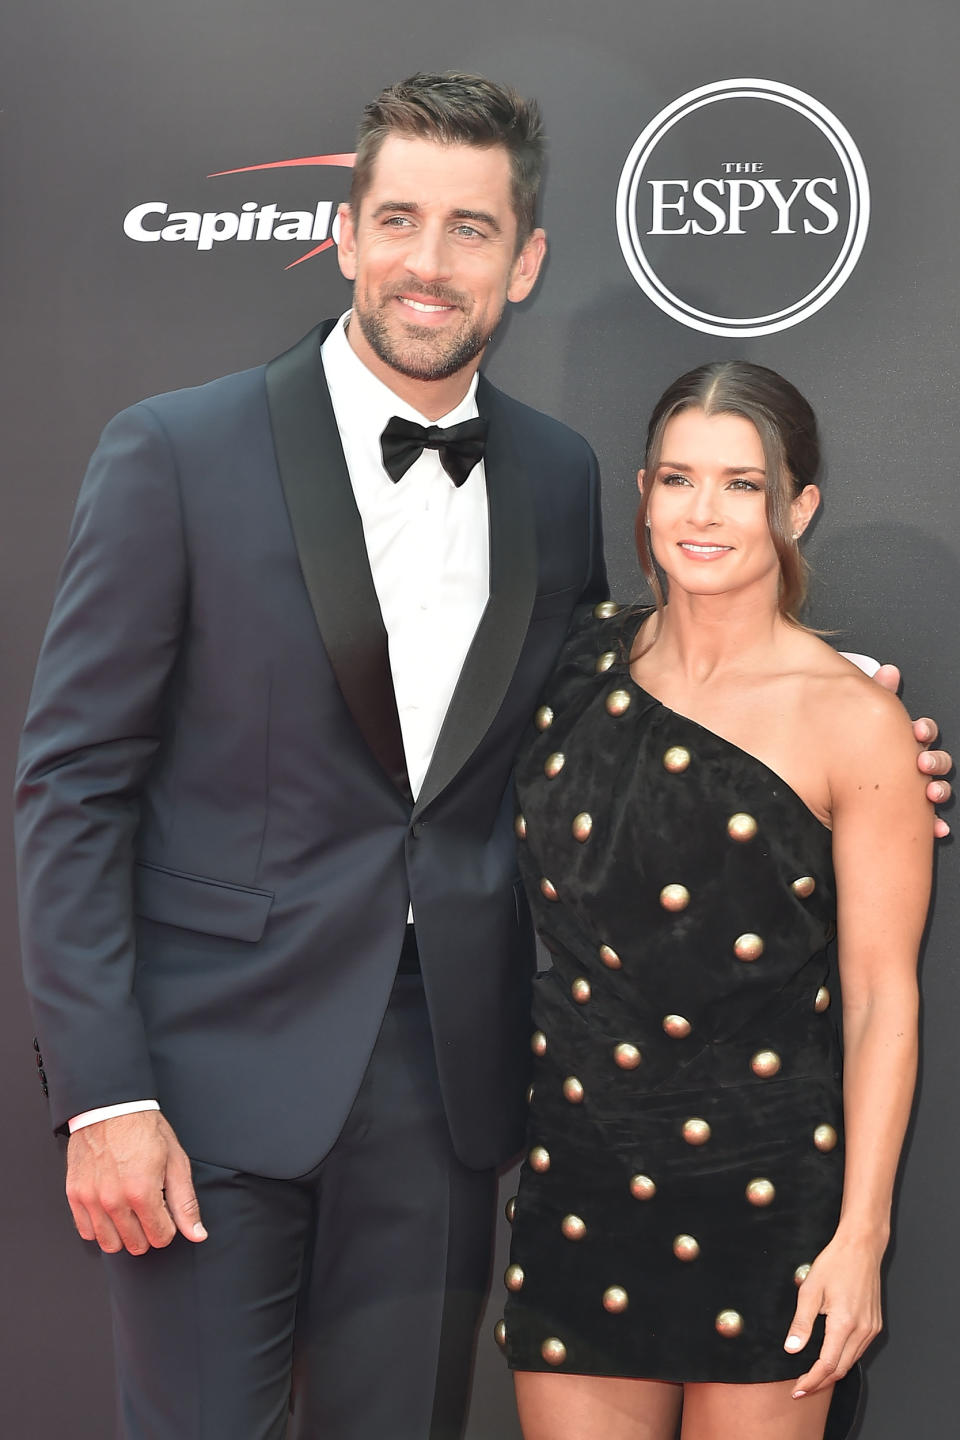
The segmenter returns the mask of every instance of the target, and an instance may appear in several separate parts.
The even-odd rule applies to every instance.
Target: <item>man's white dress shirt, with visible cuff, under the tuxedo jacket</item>
[[[354,354],[348,320],[350,311],[341,315],[321,353],[387,631],[403,750],[416,796],[489,598],[486,478],[479,461],[458,488],[438,452],[425,449],[394,484],[383,468],[380,433],[393,415],[443,426],[472,419],[478,413],[476,376],[449,415],[430,420]],[[412,910],[407,919],[413,919]],[[155,1109],[155,1100],[107,1104],[73,1116],[69,1129],[72,1133],[117,1115]]]

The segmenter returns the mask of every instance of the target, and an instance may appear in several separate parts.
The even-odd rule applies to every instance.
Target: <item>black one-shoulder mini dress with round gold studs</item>
[[[518,762],[553,968],[501,1339],[515,1369],[789,1380],[843,1181],[830,832],[632,681],[639,621],[576,619]]]

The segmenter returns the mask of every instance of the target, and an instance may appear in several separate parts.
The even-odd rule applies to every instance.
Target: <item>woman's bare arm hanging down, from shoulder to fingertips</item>
[[[881,1328],[879,1264],[917,1073],[917,950],[933,844],[902,706],[858,681],[830,729],[846,1161],[836,1234],[800,1287],[786,1341],[802,1349],[826,1313],[820,1356],[797,1395],[845,1375]]]

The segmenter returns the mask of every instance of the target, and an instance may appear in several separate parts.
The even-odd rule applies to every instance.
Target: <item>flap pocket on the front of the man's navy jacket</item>
[[[263,935],[272,904],[271,890],[187,876],[145,861],[134,865],[134,912],[144,920],[253,943]]]

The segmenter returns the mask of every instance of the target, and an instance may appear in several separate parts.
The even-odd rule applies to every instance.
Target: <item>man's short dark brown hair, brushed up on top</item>
[[[442,145],[502,145],[510,157],[511,203],[517,248],[534,228],[544,164],[544,134],[537,101],[525,101],[505,85],[481,75],[445,71],[412,75],[384,89],[363,112],[350,204],[358,212],[370,189],[373,167],[389,135],[433,140]]]

